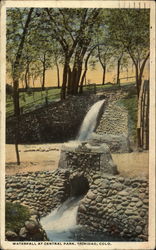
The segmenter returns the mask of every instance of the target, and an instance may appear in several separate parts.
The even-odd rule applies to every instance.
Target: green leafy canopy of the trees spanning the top
[[[7,9],[7,72],[11,77],[29,10]],[[92,50],[96,44],[98,53]],[[70,84],[74,85],[80,78],[77,71],[82,71],[91,50],[93,69],[99,59],[102,65],[111,66],[120,57],[121,65],[126,66],[127,55],[139,69],[149,51],[149,10],[34,8],[18,67],[19,79],[34,83],[38,77],[45,79],[46,70],[66,62],[73,73]]]

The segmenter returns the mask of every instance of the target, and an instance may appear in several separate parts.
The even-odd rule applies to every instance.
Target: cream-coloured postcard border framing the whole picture
[[[154,249],[155,247],[155,2],[154,1],[2,1],[1,2],[1,200],[4,201],[5,194],[5,28],[7,7],[68,7],[68,8],[150,8],[151,10],[151,35],[150,35],[150,151],[149,151],[149,187],[150,187],[150,207],[149,207],[149,241],[148,242],[111,242],[108,245],[15,245],[4,240],[4,202],[1,202],[1,248],[2,249]],[[48,242],[47,242],[48,244]]]

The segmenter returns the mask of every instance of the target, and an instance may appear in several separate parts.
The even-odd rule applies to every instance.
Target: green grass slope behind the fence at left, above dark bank
[[[48,103],[56,101],[60,98],[60,89],[53,88],[48,91],[34,91],[34,92],[20,92],[20,107],[23,108],[23,112],[33,111],[36,108],[40,108],[46,104],[46,96]],[[6,98],[6,115],[13,114],[13,99],[7,95]]]

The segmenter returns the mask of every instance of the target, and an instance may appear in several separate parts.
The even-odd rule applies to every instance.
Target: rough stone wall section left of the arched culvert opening
[[[58,169],[6,176],[6,201],[20,202],[44,216],[69,196],[66,175]]]

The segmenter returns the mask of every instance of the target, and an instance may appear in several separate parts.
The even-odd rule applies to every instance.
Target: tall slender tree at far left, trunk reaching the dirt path
[[[27,12],[27,13],[25,13]],[[13,78],[13,89],[14,89],[14,114],[16,117],[16,126],[15,126],[15,150],[16,150],[16,156],[17,156],[17,164],[20,164],[20,157],[19,157],[19,151],[18,151],[18,137],[19,137],[19,116],[20,116],[20,106],[19,106],[19,78],[21,74],[21,58],[24,48],[24,43],[26,39],[26,35],[28,33],[29,24],[32,18],[33,14],[33,8],[25,9],[23,10],[23,17],[24,17],[24,23],[22,22],[21,18],[21,12],[19,9],[9,9],[7,11],[7,45],[8,49],[11,50],[11,57],[13,57],[14,60],[12,61],[12,78]],[[20,22],[18,22],[20,19]],[[20,24],[21,27],[20,27]],[[14,26],[15,25],[15,26]],[[17,26],[19,26],[18,30],[16,29]],[[12,30],[13,29],[13,30]],[[15,31],[14,34],[12,32]],[[17,47],[15,47],[14,44],[14,38],[15,43],[17,44]],[[7,54],[7,58],[9,59],[9,54]]]

